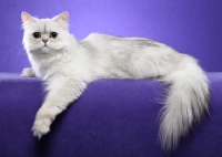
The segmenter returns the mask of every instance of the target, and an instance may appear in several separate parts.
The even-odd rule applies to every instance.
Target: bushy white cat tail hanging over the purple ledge
[[[193,122],[209,111],[209,83],[203,70],[191,56],[185,56],[173,72],[163,77],[170,90],[162,109],[160,138],[167,150],[178,146]]]

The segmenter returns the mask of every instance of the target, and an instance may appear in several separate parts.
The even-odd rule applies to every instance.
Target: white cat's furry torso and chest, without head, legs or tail
[[[162,43],[140,38],[117,38],[99,33],[92,33],[82,41],[74,40],[72,35],[69,38],[71,51],[54,52],[57,54],[53,56],[29,56],[37,76],[48,80],[52,73],[69,71],[70,75],[81,70],[81,73],[88,75],[82,77],[90,77],[90,82],[101,77],[157,77],[173,71],[175,62],[184,55]],[[58,71],[61,66],[63,69]]]

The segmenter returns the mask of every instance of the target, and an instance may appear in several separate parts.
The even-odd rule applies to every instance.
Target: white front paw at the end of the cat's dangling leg
[[[49,118],[37,118],[32,127],[33,135],[40,139],[50,132],[50,124],[51,121]]]

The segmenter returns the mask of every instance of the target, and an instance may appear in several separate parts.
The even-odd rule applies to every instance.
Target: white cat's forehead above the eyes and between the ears
[[[32,27],[31,30],[34,32],[42,32],[42,33],[48,33],[51,31],[56,31],[58,30],[60,27],[58,24],[58,22],[56,22],[54,20],[51,19],[41,19],[36,21]]]

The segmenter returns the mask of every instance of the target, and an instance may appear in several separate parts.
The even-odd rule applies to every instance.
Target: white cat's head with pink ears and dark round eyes
[[[69,45],[68,12],[52,19],[37,19],[27,12],[21,13],[24,29],[23,44],[29,53],[50,54]]]

